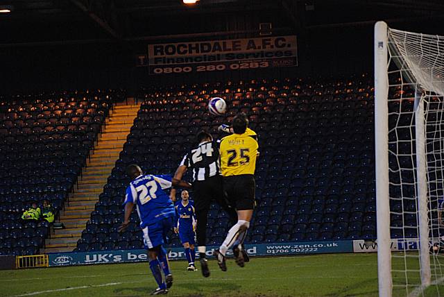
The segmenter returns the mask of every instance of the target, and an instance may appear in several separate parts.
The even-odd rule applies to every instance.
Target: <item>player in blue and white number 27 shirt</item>
[[[164,189],[172,185],[189,188],[183,180],[171,180],[171,176],[144,175],[136,164],[127,167],[126,173],[131,179],[126,189],[125,219],[119,232],[124,232],[130,223],[131,212],[136,205],[140,218],[140,228],[144,237],[144,246],[148,250],[150,269],[159,286],[152,295],[167,294],[173,285],[173,275],[169,270],[167,251],[162,244],[167,232],[173,228],[174,206]],[[162,271],[164,277],[162,277]]]

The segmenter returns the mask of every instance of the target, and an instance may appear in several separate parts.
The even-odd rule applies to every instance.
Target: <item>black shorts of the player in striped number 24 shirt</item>
[[[193,193],[196,213],[208,212],[213,200],[224,209],[228,207],[227,197],[222,187],[222,176],[212,176],[206,180],[196,180],[193,183]]]

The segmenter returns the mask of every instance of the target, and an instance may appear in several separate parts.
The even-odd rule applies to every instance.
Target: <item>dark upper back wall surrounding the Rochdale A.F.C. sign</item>
[[[4,61],[0,71],[0,94],[87,88],[123,88],[131,94],[137,92],[140,86],[150,85],[369,72],[372,67],[371,46],[362,44],[366,40],[371,42],[371,32],[370,28],[346,31],[316,29],[305,34],[289,31],[288,34],[298,37],[298,67],[191,75],[148,75],[147,67],[136,67],[137,55],[147,53],[148,43],[159,43],[155,41],[4,48],[0,49],[0,58]],[[212,39],[237,37],[257,36],[244,34]],[[203,39],[184,37],[160,42],[191,40]]]

